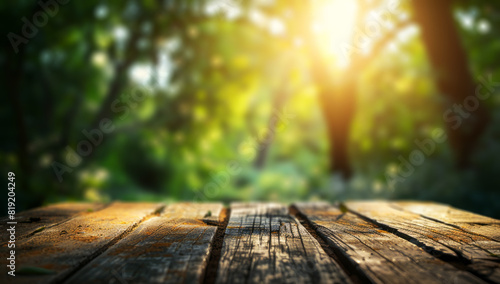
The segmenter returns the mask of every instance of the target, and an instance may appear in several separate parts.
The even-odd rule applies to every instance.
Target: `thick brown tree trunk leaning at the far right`
[[[447,99],[445,108],[453,110],[457,105],[464,105],[467,97],[475,96],[475,83],[453,19],[452,1],[418,0],[412,3],[430,63],[437,75],[436,84]],[[490,120],[482,102],[477,101],[477,108],[469,114],[459,113],[456,117],[446,118],[445,112],[450,146],[460,168],[470,165],[470,156]],[[452,113],[448,111],[448,114]]]

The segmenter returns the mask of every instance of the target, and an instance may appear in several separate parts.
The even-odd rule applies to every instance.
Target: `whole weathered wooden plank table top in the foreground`
[[[436,203],[63,203],[8,221],[0,283],[500,283],[500,220]]]

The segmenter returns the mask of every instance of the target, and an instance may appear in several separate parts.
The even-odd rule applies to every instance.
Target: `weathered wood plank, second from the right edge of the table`
[[[389,202],[348,202],[349,210],[394,230],[398,236],[419,244],[436,257],[465,265],[465,269],[500,283],[500,242],[454,226],[394,208]],[[497,256],[495,256],[497,255]]]

